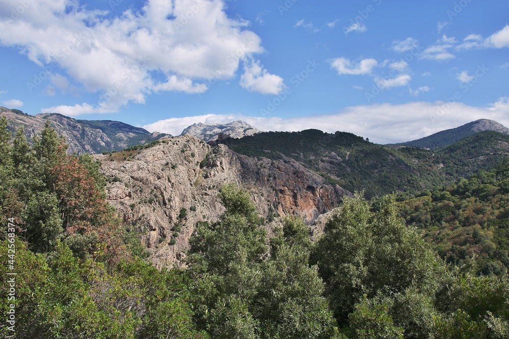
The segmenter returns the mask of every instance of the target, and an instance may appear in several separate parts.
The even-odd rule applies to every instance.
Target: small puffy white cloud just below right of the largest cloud
[[[285,84],[280,76],[270,74],[260,61],[244,61],[244,74],[240,77],[240,85],[251,91],[261,94],[279,94],[284,90]]]

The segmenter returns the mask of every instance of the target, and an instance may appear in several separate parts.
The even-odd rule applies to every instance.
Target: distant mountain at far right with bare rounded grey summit
[[[441,131],[425,138],[398,143],[397,145],[440,148],[451,145],[465,137],[483,131],[495,131],[503,134],[509,134],[509,129],[500,125],[498,122],[488,119],[479,119],[457,128]]]

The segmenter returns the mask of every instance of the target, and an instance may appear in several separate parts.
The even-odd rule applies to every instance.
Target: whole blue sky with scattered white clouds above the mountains
[[[506,0],[1,0],[0,105],[403,142],[509,127]]]

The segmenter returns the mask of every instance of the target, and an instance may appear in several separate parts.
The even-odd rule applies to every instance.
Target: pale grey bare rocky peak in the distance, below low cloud
[[[260,133],[260,131],[247,124],[247,122],[237,120],[224,125],[205,125],[199,122],[198,124],[193,124],[186,128],[181,135],[190,134],[205,142],[209,142],[216,140],[219,136],[242,138],[257,133]]]

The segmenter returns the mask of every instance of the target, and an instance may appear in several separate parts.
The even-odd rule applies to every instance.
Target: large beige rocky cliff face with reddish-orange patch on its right
[[[242,184],[269,220],[296,213],[312,223],[350,195],[292,159],[249,158],[190,135],[96,158],[112,179],[110,203],[143,234],[158,267],[180,265],[196,223],[218,219],[223,212],[218,190],[224,183]]]

